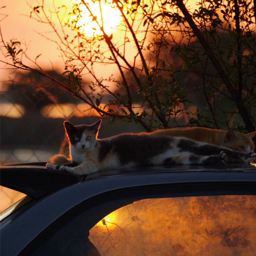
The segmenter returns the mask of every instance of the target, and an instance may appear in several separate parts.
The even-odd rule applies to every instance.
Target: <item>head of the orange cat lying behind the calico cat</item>
[[[251,139],[253,136],[255,136],[255,134],[256,131],[244,135],[240,132],[228,130],[223,137],[223,146],[233,150],[250,153],[254,148]]]

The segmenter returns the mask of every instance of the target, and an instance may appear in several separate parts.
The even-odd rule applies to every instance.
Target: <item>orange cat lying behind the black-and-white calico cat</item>
[[[202,127],[196,128],[171,128],[165,130],[157,130],[150,133],[154,136],[180,136],[188,139],[215,144],[225,148],[231,148],[241,152],[251,152],[254,145],[251,141],[256,132],[242,134],[233,130],[223,131],[216,129],[208,129]]]

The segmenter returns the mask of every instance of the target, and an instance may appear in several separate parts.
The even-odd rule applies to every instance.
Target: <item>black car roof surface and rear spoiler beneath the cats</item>
[[[113,169],[96,172],[87,176],[79,176],[69,172],[50,170],[45,168],[46,162],[22,163],[1,166],[0,184],[27,194],[32,198],[40,198],[60,188],[76,184],[83,180],[97,180],[100,178],[159,173],[218,173],[241,172],[255,173],[256,166],[252,164],[228,164],[227,166],[204,165],[173,165],[173,166],[143,166],[129,169]],[[256,180],[255,180],[256,181]]]

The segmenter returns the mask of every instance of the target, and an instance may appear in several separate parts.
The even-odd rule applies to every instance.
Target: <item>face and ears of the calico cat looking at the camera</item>
[[[73,126],[69,122],[64,122],[64,127],[68,134],[71,147],[79,151],[86,151],[93,148],[96,144],[100,122],[101,120],[92,125],[78,126]]]

